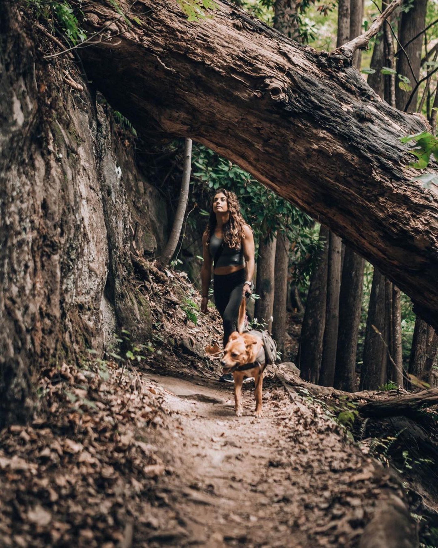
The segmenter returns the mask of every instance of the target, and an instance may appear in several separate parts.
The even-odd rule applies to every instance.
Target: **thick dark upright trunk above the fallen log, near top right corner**
[[[411,81],[412,88],[415,87],[416,79],[418,80],[421,67],[421,52],[423,44],[423,35],[420,31],[426,26],[426,7],[427,0],[405,0],[403,4],[404,10],[400,16],[399,23],[399,42],[404,51],[397,52],[397,74],[406,76]],[[414,36],[419,35],[412,40]],[[412,42],[410,42],[412,40]],[[410,42],[410,43],[408,43]],[[395,98],[397,108],[415,112],[417,110],[418,89],[412,95],[412,92],[406,92],[398,85],[395,88]],[[409,102],[409,105],[406,105]]]

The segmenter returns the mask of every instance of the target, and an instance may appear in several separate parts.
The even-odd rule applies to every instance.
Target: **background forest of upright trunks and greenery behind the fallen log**
[[[302,44],[329,51],[365,32],[381,13],[381,7],[374,2],[357,5],[340,2],[339,9],[335,2],[236,3],[268,25],[276,25],[280,30],[287,27],[286,33]],[[200,4],[195,4],[194,12],[188,8],[191,5],[187,2],[189,15],[205,16]],[[355,58],[364,78],[368,78],[384,100],[400,110],[422,113],[433,134],[437,109],[437,10],[433,1],[405,3],[372,39],[370,47]],[[342,38],[339,32],[345,34],[345,28],[347,34]],[[400,136],[403,137],[406,138]],[[177,156],[182,149],[183,141],[175,141],[170,149],[164,150],[173,150]],[[192,155],[188,237],[181,242],[175,266],[187,270],[193,281],[199,283],[199,242],[205,220],[200,215],[207,215],[208,200],[214,190],[221,187],[233,190],[255,231],[257,271],[266,273],[257,277],[256,299],[260,296],[261,300],[256,300],[253,313],[260,324],[273,329],[285,361],[297,361],[308,380],[350,391],[358,387],[361,372],[361,388],[388,390],[399,385],[412,386],[408,375],[413,375],[414,384],[418,379],[420,386],[435,383],[436,336],[413,313],[406,295],[393,288],[378,271],[374,273],[372,265],[358,261],[354,255],[351,258],[349,252],[345,262],[345,247],[339,238],[325,229],[319,237],[318,223],[258,184],[238,165],[203,145],[195,145]],[[293,170],[291,174],[293,177]],[[158,174],[156,180],[160,178],[168,181],[169,174]],[[430,184],[430,178],[424,184]],[[175,192],[174,187],[174,196]],[[286,267],[281,252],[289,258]],[[286,280],[280,277],[285,270]],[[310,303],[306,307],[309,289]],[[301,325],[305,308],[298,352],[296,346],[288,348],[285,341],[286,309],[290,326],[291,322]],[[273,324],[270,317],[274,318]]]

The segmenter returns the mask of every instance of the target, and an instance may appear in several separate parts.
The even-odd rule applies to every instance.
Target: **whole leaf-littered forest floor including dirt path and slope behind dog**
[[[43,369],[31,424],[0,432],[1,548],[367,548],[390,511],[391,546],[418,545],[408,491],[338,424],[339,398],[294,387],[280,364],[263,418],[253,382],[237,418],[217,312],[188,320],[183,276],[155,272],[148,289],[146,359]]]

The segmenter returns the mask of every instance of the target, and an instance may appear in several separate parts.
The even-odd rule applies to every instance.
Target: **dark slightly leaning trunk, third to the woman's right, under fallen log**
[[[321,366],[322,339],[327,302],[327,259],[329,231],[321,225],[319,238],[324,241],[319,260],[312,274],[299,342],[299,369],[304,380],[317,383]]]

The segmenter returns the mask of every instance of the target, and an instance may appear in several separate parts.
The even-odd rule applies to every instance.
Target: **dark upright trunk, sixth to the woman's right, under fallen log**
[[[360,390],[376,390],[382,381],[382,364],[387,356],[385,334],[385,277],[374,269],[370,305],[366,323],[364,359],[360,373]],[[381,333],[376,333],[376,329]]]

